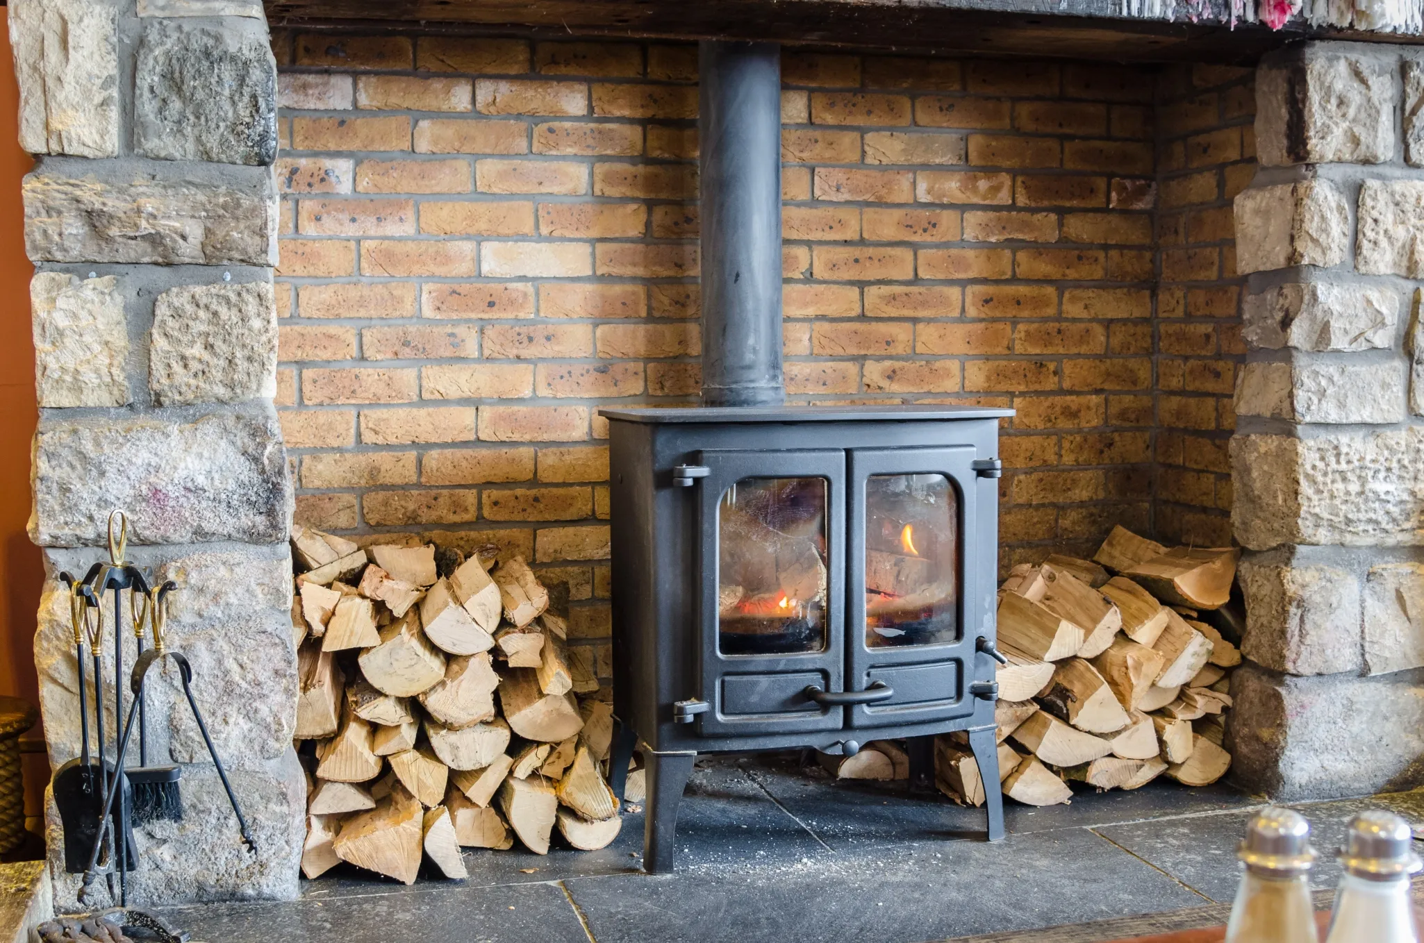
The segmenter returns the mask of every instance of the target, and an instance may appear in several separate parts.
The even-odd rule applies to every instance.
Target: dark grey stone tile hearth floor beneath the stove
[[[601,852],[470,850],[467,880],[422,873],[409,887],[343,865],[296,902],[165,915],[208,943],[918,943],[1183,909],[1220,923],[1210,905],[1235,895],[1235,846],[1260,805],[1168,781],[1047,809],[1005,802],[1008,839],[988,845],[983,811],[938,793],[833,782],[792,756],[705,758],[676,875],[638,870],[639,812]],[[1317,887],[1334,886],[1333,850],[1370,805],[1424,819],[1424,791],[1294,806],[1321,852]]]

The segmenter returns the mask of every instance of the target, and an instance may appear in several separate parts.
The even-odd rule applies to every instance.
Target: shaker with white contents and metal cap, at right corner
[[[1383,809],[1350,819],[1326,943],[1418,943],[1410,875],[1421,866],[1408,823]]]

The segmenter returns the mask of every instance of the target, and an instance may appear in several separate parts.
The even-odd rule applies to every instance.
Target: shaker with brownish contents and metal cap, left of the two
[[[1316,862],[1310,823],[1290,809],[1266,808],[1246,823],[1236,856],[1242,883],[1226,943],[1317,943],[1306,875]]]

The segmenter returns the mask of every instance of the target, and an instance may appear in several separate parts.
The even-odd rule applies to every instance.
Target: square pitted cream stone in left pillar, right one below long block
[[[276,395],[272,285],[184,285],[154,302],[148,387],[161,406]]]

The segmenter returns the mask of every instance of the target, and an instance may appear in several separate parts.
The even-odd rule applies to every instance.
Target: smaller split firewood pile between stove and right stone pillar
[[[1028,805],[1068,802],[1065,781],[1136,789],[1166,775],[1216,782],[1240,651],[1208,620],[1236,577],[1235,550],[1168,548],[1115,527],[1094,558],[1014,567],[998,594],[998,775]],[[940,788],[973,805],[967,745],[936,744]]]

